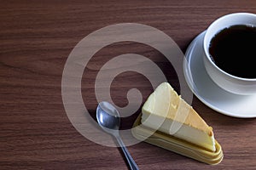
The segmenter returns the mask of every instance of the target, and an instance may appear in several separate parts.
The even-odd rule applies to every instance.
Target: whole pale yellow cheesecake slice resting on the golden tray
[[[207,150],[215,151],[212,127],[173,90],[161,83],[143,105],[142,123]]]

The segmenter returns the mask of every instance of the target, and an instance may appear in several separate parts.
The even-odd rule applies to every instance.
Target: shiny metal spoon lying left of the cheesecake
[[[99,103],[96,109],[96,119],[100,127],[102,127],[105,132],[110,133],[115,137],[125,154],[125,158],[130,168],[132,170],[139,169],[119,136],[120,117],[119,112],[114,108],[114,106],[106,101]]]

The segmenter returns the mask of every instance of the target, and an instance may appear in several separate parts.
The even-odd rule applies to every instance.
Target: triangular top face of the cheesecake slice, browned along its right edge
[[[212,127],[185,102],[168,82],[162,82],[143,105],[143,114],[154,114],[181,122],[213,136]]]

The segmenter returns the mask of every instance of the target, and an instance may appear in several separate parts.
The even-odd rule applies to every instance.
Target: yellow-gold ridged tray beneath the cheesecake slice
[[[141,117],[142,114],[137,117],[131,130],[132,135],[136,139],[145,141],[148,144],[154,144],[166,150],[172,150],[177,154],[188,156],[197,161],[202,161],[211,165],[218,164],[223,160],[223,151],[217,140],[215,140],[215,151],[206,150],[205,148],[189,143],[183,139],[177,139],[172,135],[143,126],[141,124]]]

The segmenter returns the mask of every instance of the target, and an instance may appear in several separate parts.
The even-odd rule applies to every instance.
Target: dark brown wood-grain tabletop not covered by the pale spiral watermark
[[[92,31],[118,23],[153,26],[185,52],[189,42],[223,14],[256,13],[255,1],[1,1],[0,2],[0,169],[127,169],[117,148],[85,139],[67,118],[61,76],[74,46]],[[96,72],[119,54],[153,57],[169,82],[170,64],[156,50],[136,42],[102,48],[87,65],[82,94],[95,115]],[[136,81],[134,81],[136,80]],[[131,83],[132,82],[132,83]],[[152,92],[134,72],[112,84],[116,105],[127,104],[127,89],[138,87],[143,101]],[[172,151],[139,143],[128,147],[140,169],[256,169],[256,120],[224,116],[194,97],[193,107],[214,128],[224,160],[210,166]],[[133,117],[134,118],[134,117]],[[123,122],[131,125],[132,117]]]

